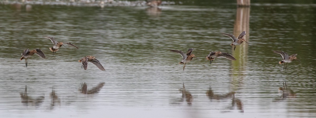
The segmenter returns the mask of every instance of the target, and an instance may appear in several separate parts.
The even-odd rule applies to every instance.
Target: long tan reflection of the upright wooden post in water
[[[249,7],[237,7],[236,12],[236,20],[234,23],[234,34],[238,35],[243,31],[246,31],[246,35],[244,39],[249,42],[249,16],[250,16],[250,8]],[[247,53],[248,53],[248,44],[243,43],[239,45],[235,50],[232,47],[232,55],[237,59],[236,61],[232,61],[231,76],[233,77],[233,83],[240,83],[241,78],[245,78],[244,71],[246,67],[247,61]],[[236,85],[234,85],[236,86]],[[238,85],[237,85],[238,86]]]

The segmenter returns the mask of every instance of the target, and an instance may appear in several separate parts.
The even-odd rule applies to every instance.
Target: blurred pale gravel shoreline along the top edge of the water
[[[147,6],[145,0],[1,0],[0,4],[30,4],[30,5],[64,5],[64,6]],[[175,2],[163,1],[161,5],[174,5]]]

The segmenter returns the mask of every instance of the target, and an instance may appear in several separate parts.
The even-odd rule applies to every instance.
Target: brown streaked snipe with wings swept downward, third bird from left
[[[94,56],[85,56],[83,58],[81,58],[80,60],[78,60],[79,62],[82,63],[83,69],[87,70],[88,68],[88,62],[92,63],[93,65],[97,66],[101,71],[105,71],[105,69],[103,68],[103,66],[101,65],[101,63],[99,62],[98,59],[95,59]],[[81,66],[81,68],[82,68]]]

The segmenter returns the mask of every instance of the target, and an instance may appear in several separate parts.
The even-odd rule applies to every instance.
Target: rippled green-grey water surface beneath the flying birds
[[[238,12],[233,3],[214,6],[69,7],[0,5],[1,117],[315,117],[316,116],[316,5],[253,4],[246,23],[246,40],[234,51],[232,40]],[[27,9],[26,9],[27,8]],[[234,28],[235,26],[235,28]],[[239,35],[238,31],[234,33]],[[80,49],[61,47],[52,56],[52,42],[71,42]],[[19,60],[25,49],[37,55]],[[180,54],[193,53],[182,71]],[[297,53],[287,70],[273,50]],[[215,59],[210,51],[232,54],[237,61]],[[106,68],[100,71],[78,62],[93,55]],[[296,94],[281,99],[279,87]],[[95,94],[82,94],[104,82]],[[179,89],[185,84],[186,93]],[[21,98],[27,85],[28,102]],[[233,97],[206,96],[235,91]],[[52,89],[58,98],[50,96]]]

